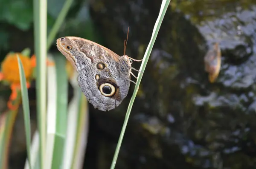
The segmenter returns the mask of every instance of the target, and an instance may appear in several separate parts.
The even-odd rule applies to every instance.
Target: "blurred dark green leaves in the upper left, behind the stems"
[[[59,12],[66,0],[50,0],[47,3],[47,34],[50,33]],[[33,48],[26,37],[23,41],[11,41],[15,36],[33,34],[33,0],[1,0],[0,6],[0,62],[9,51],[20,51],[17,45],[23,48]],[[69,14],[58,31],[58,36],[72,34],[87,39],[98,38],[94,36],[93,24],[87,12],[87,1],[73,2]],[[71,13],[71,14],[70,14]],[[87,29],[84,29],[84,28]],[[16,31],[17,33],[14,33]],[[15,48],[12,48],[12,47]]]

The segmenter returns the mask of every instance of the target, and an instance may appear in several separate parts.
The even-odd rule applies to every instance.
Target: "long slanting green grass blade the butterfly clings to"
[[[139,85],[140,85],[140,82],[141,82],[141,79],[142,79],[142,76],[143,76],[143,72],[144,72],[144,70],[146,68],[149,56],[150,56],[152,48],[154,46],[154,42],[155,42],[155,40],[157,38],[157,34],[158,34],[159,29],[160,29],[160,25],[163,22],[164,15],[165,15],[166,10],[167,10],[167,8],[168,8],[168,6],[170,4],[170,1],[171,0],[163,0],[162,1],[160,12],[159,12],[159,15],[157,17],[157,21],[156,21],[156,23],[154,25],[152,37],[151,37],[150,42],[148,44],[148,47],[147,47],[147,49],[145,51],[145,55],[143,57],[143,61],[142,61],[141,66],[140,66],[140,72],[138,73],[138,79],[137,79],[137,83],[136,83],[136,86],[135,86],[135,89],[134,89],[134,93],[133,93],[133,95],[131,97],[131,101],[130,101],[130,103],[128,105],[128,109],[127,109],[127,112],[126,112],[126,115],[125,115],[125,121],[124,121],[122,130],[121,130],[121,133],[120,133],[120,136],[119,136],[119,140],[118,140],[118,143],[117,143],[117,146],[116,146],[116,151],[115,151],[115,154],[114,154],[114,157],[113,157],[113,161],[111,163],[111,169],[114,169],[115,166],[116,166],[116,160],[117,160],[117,157],[118,157],[118,154],[119,154],[119,150],[120,150],[120,147],[121,147],[121,144],[122,144],[122,139],[123,139],[124,134],[125,134],[125,129],[126,129],[126,126],[127,126],[127,123],[128,123],[128,119],[129,119],[130,113],[131,113],[131,108],[132,108],[132,105],[134,103],[134,100],[135,100],[135,97],[137,95],[137,92],[139,90]]]

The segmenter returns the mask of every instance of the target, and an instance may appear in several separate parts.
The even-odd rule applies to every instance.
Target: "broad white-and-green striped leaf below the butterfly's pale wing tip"
[[[51,60],[51,57],[49,57]],[[55,66],[48,67],[47,169],[58,169],[62,164],[67,126],[66,59],[56,55]]]

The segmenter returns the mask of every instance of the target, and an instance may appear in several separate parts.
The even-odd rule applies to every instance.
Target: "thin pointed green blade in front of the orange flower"
[[[28,95],[28,89],[26,88],[26,77],[25,77],[23,65],[18,55],[17,55],[17,59],[18,59],[18,65],[19,65],[20,89],[21,89],[23,116],[24,116],[24,124],[25,124],[25,131],[26,131],[26,149],[27,149],[27,156],[28,156],[28,162],[29,162],[29,169],[31,169],[31,156],[30,156],[31,129],[30,129],[29,95]]]

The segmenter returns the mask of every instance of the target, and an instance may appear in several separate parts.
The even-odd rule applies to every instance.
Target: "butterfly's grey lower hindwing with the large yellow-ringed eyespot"
[[[120,71],[114,61],[105,61],[109,71],[99,70],[96,63],[79,71],[77,81],[87,100],[94,108],[106,111],[119,106],[127,96],[130,81]]]

